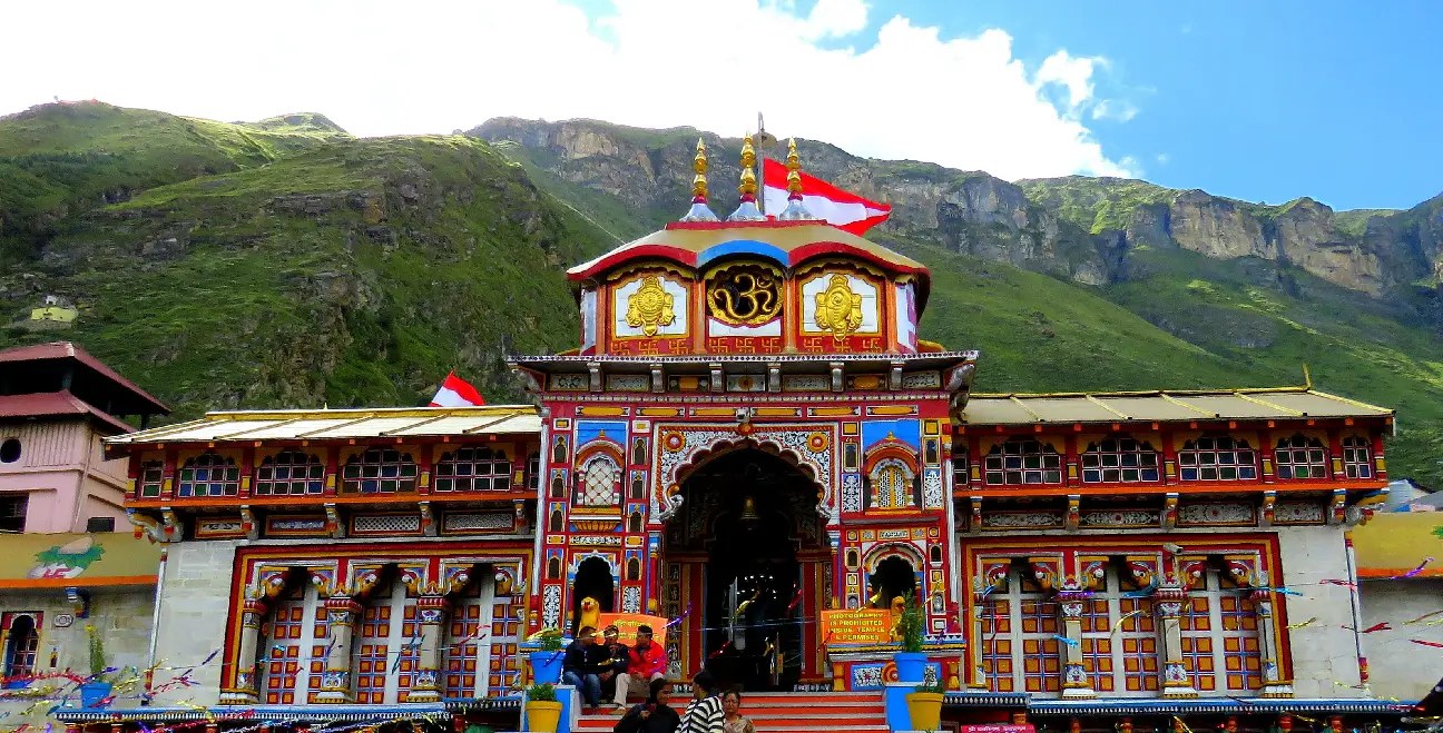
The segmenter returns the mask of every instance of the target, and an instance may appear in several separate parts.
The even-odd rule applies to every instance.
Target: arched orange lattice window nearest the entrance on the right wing
[[[1007,589],[983,607],[983,674],[993,691],[1055,694],[1062,688],[1058,605],[1016,566]]]

